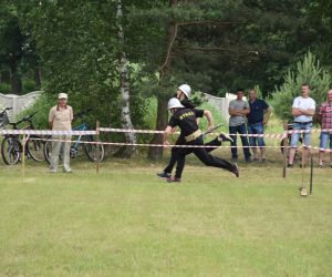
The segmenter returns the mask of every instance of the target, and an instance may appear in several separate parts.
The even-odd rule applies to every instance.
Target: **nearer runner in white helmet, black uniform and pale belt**
[[[167,137],[172,133],[172,130],[176,126],[180,129],[180,136],[184,137],[187,145],[201,145],[204,141],[201,131],[197,125],[197,119],[206,116],[209,122],[209,131],[214,127],[214,120],[211,113],[205,110],[187,109],[179,102],[178,99],[170,99],[168,101],[168,110],[173,113],[167,127],[164,133],[164,144],[169,145]],[[177,167],[174,177],[168,177],[168,182],[180,182],[181,174],[185,167],[186,155],[194,153],[205,165],[225,168],[232,172],[237,177],[239,176],[238,165],[231,164],[222,158],[210,155],[204,147],[184,147],[179,148],[177,153]]]

